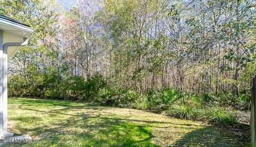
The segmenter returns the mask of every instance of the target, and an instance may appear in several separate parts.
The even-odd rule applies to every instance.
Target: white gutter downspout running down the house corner
[[[25,46],[28,39],[23,38],[23,42],[8,42],[3,45],[3,133],[5,136],[11,137],[13,133],[7,131],[7,78],[8,78],[8,55],[7,48],[11,46]]]

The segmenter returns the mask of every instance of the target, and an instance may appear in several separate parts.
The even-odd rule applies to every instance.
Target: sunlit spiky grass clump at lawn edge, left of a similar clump
[[[185,119],[194,119],[196,118],[195,109],[188,105],[181,103],[180,105],[173,105],[169,108],[169,110],[165,111],[168,116],[176,117],[176,118],[185,118]]]

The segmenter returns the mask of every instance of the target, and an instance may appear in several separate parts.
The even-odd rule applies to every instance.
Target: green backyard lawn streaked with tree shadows
[[[91,103],[9,99],[10,131],[36,143],[7,146],[246,146],[247,126],[223,128]]]

